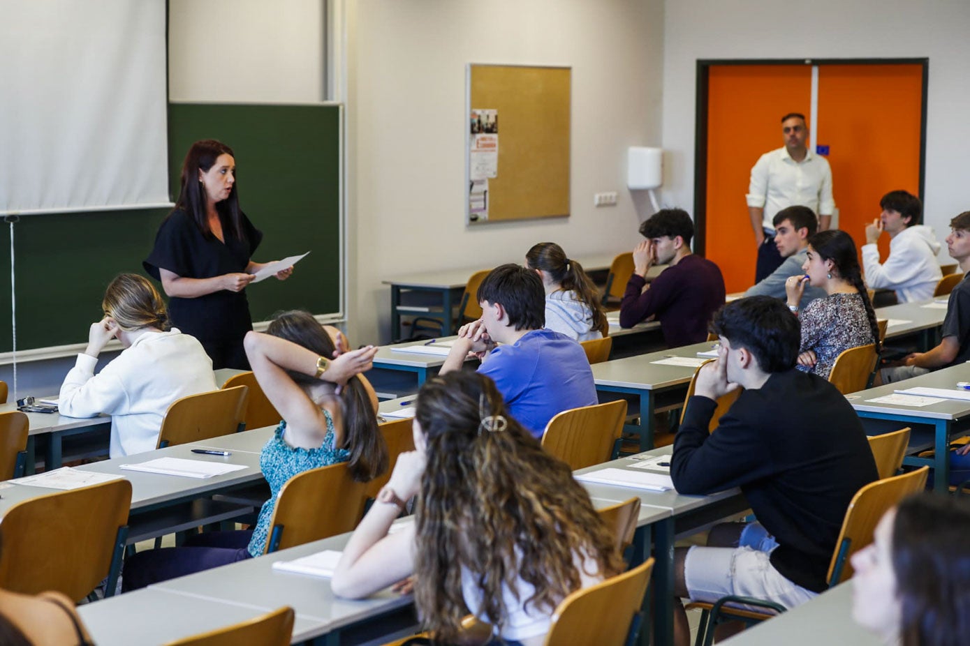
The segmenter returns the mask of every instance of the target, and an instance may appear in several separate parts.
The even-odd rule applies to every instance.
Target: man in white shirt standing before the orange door
[[[835,210],[832,170],[828,161],[808,149],[805,115],[790,112],[782,117],[785,145],[766,152],[751,169],[748,215],[758,241],[755,283],[781,265],[784,259],[774,243],[774,217],[778,211],[799,204],[819,214],[819,231],[828,229]]]

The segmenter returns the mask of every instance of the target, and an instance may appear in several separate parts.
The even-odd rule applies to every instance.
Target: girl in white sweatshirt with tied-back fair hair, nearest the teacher
[[[61,415],[112,415],[111,456],[152,450],[169,406],[214,390],[212,361],[195,337],[170,328],[165,302],[144,276],[121,274],[105,292],[104,313],[88,330],[87,348],[61,385]],[[94,374],[112,339],[124,350]]]

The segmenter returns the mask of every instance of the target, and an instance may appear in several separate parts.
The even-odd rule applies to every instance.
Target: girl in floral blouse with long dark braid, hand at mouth
[[[852,236],[838,230],[815,233],[808,238],[808,260],[801,268],[804,276],[792,276],[785,283],[789,309],[798,313],[806,283],[828,295],[813,300],[799,316],[798,369],[828,379],[832,364],[844,351],[872,343],[878,353],[876,312],[862,282]]]

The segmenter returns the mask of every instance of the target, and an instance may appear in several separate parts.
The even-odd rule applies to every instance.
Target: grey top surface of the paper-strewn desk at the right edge
[[[857,413],[879,413],[902,417],[925,417],[931,419],[954,420],[970,415],[970,401],[959,399],[940,399],[929,406],[905,406],[902,404],[887,404],[869,400],[891,395],[896,390],[905,390],[917,386],[930,388],[956,387],[957,382],[970,382],[970,364],[963,363],[943,370],[936,370],[921,377],[914,377],[903,382],[880,385],[868,390],[861,390],[847,395],[849,403]]]

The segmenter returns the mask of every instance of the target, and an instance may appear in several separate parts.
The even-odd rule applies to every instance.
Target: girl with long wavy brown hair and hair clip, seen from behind
[[[416,407],[417,450],[398,458],[344,548],[334,592],[366,597],[413,573],[436,639],[449,643],[468,608],[506,643],[541,643],[566,595],[623,569],[609,531],[489,378],[436,377]],[[415,522],[388,535],[412,496]]]

